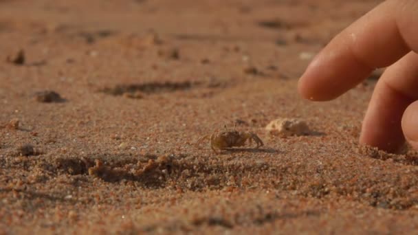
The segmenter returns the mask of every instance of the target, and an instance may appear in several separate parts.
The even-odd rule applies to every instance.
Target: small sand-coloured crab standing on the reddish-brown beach
[[[205,135],[197,140],[196,145],[199,146],[203,140],[209,139],[210,148],[214,150],[215,153],[219,153],[218,150],[223,150],[225,148],[240,147],[244,146],[247,139],[249,139],[250,144],[252,140],[256,142],[256,148],[263,146],[263,141],[260,137],[252,132],[247,131],[228,131],[228,128],[225,126],[225,131],[215,131],[212,135]]]

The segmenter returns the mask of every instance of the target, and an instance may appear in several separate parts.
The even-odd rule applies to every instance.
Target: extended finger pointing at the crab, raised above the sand
[[[369,76],[373,69],[418,52],[418,1],[385,1],[338,34],[299,80],[300,94],[331,100]]]

